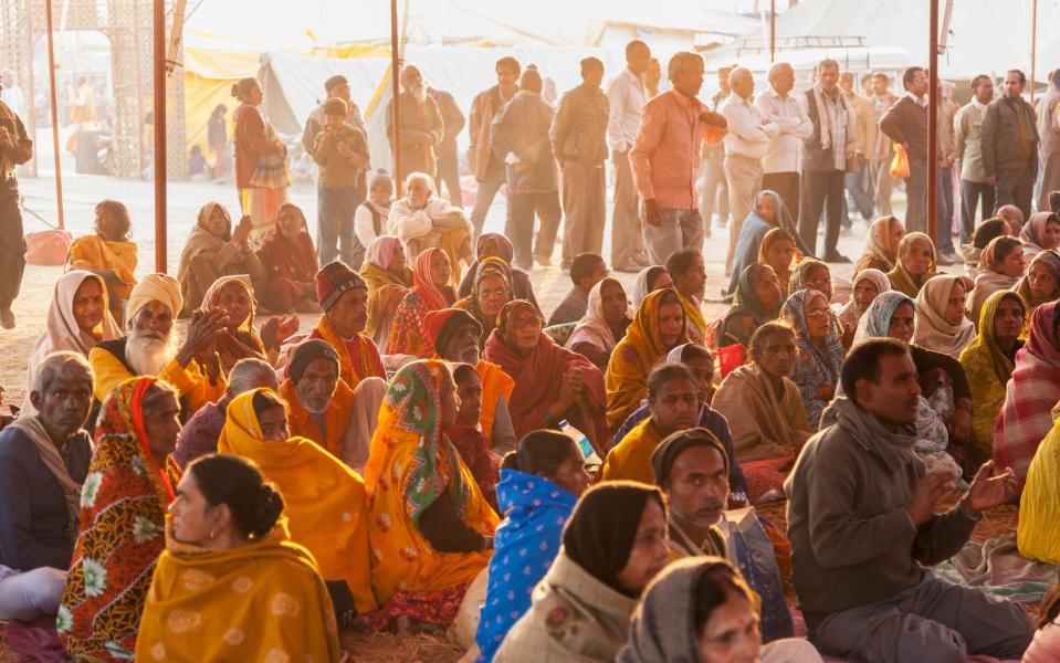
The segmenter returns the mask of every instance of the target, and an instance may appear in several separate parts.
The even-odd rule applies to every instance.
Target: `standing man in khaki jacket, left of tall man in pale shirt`
[[[604,161],[607,160],[607,95],[600,90],[604,63],[581,61],[581,85],[563,95],[548,138],[563,168],[563,269],[581,253],[599,254],[607,218]],[[552,261],[537,255],[542,266]]]

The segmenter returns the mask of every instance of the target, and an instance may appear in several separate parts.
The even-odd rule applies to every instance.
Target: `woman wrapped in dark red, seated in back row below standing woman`
[[[259,251],[265,267],[262,305],[275,313],[316,313],[316,284],[313,277],[321,263],[305,214],[290,202],[280,206],[276,228],[269,231]]]

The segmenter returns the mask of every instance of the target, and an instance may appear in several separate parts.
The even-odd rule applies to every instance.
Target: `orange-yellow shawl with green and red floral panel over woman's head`
[[[442,361],[409,364],[393,376],[379,408],[365,483],[376,596],[440,591],[469,585],[490,562],[486,552],[440,552],[419,530],[422,513],[448,492],[463,522],[492,535],[500,519],[460,454],[441,432]],[[231,406],[230,406],[231,407]]]

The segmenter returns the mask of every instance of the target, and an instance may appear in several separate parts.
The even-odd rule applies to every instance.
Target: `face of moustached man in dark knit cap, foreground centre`
[[[667,480],[670,512],[678,520],[706,529],[728,504],[725,459],[713,446],[690,446],[673,462]]]

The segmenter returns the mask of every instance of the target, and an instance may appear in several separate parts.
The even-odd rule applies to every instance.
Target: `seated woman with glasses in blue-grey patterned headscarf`
[[[839,323],[826,295],[815,290],[793,293],[781,314],[795,328],[798,347],[791,380],[802,394],[810,430],[817,430],[821,412],[836,396],[846,355]]]

